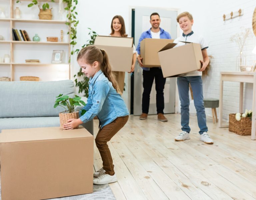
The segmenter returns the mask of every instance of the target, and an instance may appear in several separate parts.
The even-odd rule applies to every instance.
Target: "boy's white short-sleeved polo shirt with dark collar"
[[[182,33],[182,36],[176,38],[173,43],[177,43],[177,45],[175,45],[175,47],[179,47],[182,45],[186,45],[186,43],[184,42],[193,42],[193,43],[198,43],[201,45],[201,49],[207,49],[208,45],[205,42],[204,38],[200,35],[195,34],[193,31],[187,35],[185,35],[184,33]],[[174,48],[175,48],[174,47]],[[202,76],[202,72],[199,71],[193,71],[193,72],[189,72],[187,73],[186,76]]]

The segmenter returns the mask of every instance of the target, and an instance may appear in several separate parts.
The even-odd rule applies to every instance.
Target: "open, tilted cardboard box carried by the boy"
[[[188,72],[201,69],[203,60],[201,45],[188,43],[173,48],[176,44],[167,44],[158,52],[163,76],[184,76]]]

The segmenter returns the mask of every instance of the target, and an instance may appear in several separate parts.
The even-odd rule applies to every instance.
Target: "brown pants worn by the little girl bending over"
[[[99,149],[101,159],[103,161],[103,169],[106,174],[113,176],[114,166],[113,160],[108,148],[107,142],[126,124],[129,115],[118,117],[110,124],[101,128],[95,138],[96,146]]]

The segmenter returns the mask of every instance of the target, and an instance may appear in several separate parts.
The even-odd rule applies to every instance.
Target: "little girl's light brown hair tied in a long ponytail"
[[[116,78],[111,70],[111,65],[109,63],[108,55],[105,50],[99,49],[94,45],[89,45],[79,51],[77,55],[77,60],[81,58],[84,59],[84,61],[89,65],[92,65],[95,61],[97,61],[100,65],[101,71],[112,83],[116,91],[120,93],[120,89],[118,87]]]

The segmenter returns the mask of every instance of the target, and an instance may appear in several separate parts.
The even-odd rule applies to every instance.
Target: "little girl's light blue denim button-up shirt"
[[[82,116],[81,111],[79,112],[81,121],[88,122],[97,115],[101,127],[111,123],[117,117],[129,115],[121,95],[116,92],[101,70],[89,80],[89,96],[83,109],[87,112]]]

